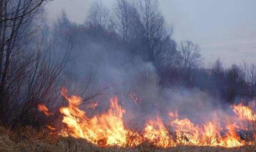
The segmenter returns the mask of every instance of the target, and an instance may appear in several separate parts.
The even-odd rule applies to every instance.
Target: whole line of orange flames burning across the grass
[[[156,116],[147,120],[142,131],[139,131],[138,128],[126,127],[123,118],[126,111],[118,104],[117,97],[110,99],[110,107],[107,111],[88,117],[86,112],[79,108],[82,103],[81,97],[68,96],[65,88],[62,88],[61,93],[69,101],[69,106],[60,108],[60,112],[64,115],[62,122],[67,128],[59,134],[85,138],[95,145],[133,147],[151,142],[161,147],[178,144],[234,147],[250,144],[242,140],[238,133],[244,128],[240,123],[244,117],[251,121],[254,120],[255,115],[254,111],[242,104],[232,106],[235,116],[238,117],[231,120],[240,122],[219,120],[218,114],[213,113],[209,121],[193,123],[186,117],[180,119],[178,110],[175,110],[174,113],[167,113],[168,123],[164,123],[160,116]],[[38,108],[46,115],[49,114],[45,106],[38,105]]]

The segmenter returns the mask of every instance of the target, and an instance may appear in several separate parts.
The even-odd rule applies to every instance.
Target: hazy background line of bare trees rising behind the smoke
[[[254,64],[223,67],[217,59],[211,67],[204,68],[198,44],[173,39],[174,29],[161,13],[158,0],[116,0],[111,9],[97,0],[90,6],[84,24],[72,23],[62,12],[55,28],[75,34],[75,53],[88,51],[84,46],[95,43],[111,55],[116,53],[113,50],[125,52],[126,62],[139,57],[152,63],[160,93],[164,88],[196,87],[223,103],[241,99],[249,102],[256,96]]]

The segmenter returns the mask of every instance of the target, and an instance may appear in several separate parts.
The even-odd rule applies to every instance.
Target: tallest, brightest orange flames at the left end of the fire
[[[69,101],[68,107],[60,109],[64,115],[62,122],[69,128],[69,134],[98,145],[121,146],[126,142],[128,130],[124,128],[122,120],[125,110],[118,105],[117,97],[110,100],[111,105],[107,112],[88,118],[85,111],[78,108],[82,102],[81,97],[68,97],[64,88],[61,93]]]

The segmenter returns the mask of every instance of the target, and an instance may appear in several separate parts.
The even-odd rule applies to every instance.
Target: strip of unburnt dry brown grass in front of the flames
[[[47,129],[37,131],[33,127],[18,127],[13,131],[0,126],[0,151],[6,152],[255,152],[256,145],[224,148],[179,145],[161,148],[152,144],[142,144],[133,149],[119,147],[103,148],[73,137],[49,134]]]

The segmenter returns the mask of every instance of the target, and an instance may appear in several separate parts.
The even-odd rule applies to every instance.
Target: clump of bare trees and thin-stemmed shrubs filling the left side
[[[69,38],[65,49],[40,34],[48,1],[0,0],[1,124],[31,124],[37,104],[54,101],[59,92],[72,43]]]

